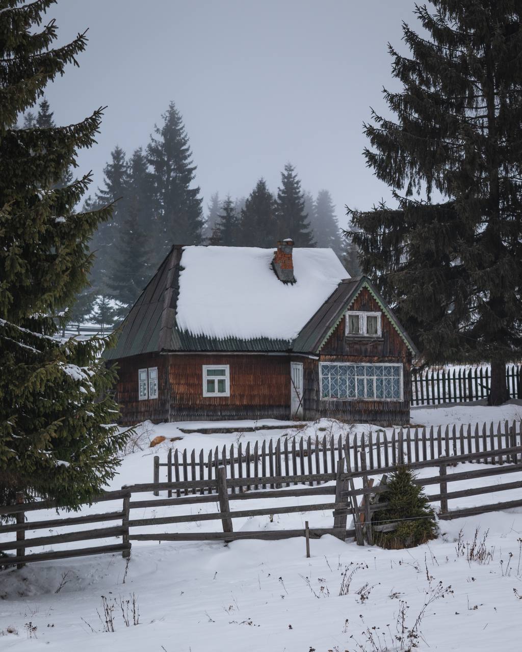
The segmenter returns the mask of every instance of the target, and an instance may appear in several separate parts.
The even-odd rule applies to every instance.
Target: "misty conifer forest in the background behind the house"
[[[54,126],[44,98],[23,115],[20,128]],[[170,102],[148,143],[132,152],[115,145],[100,187],[82,211],[112,205],[112,219],[99,224],[90,241],[94,254],[89,286],[77,295],[70,321],[112,327],[127,314],[172,244],[275,246],[292,237],[296,246],[331,247],[351,276],[360,274],[358,250],[343,235],[330,192],[316,196],[301,187],[296,166],[286,163],[277,188],[253,180],[248,197],[214,192],[204,198],[197,185],[189,134]],[[68,170],[61,183],[70,183]]]

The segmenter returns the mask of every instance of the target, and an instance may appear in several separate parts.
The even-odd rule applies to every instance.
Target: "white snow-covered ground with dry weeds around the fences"
[[[511,421],[519,418],[521,412],[522,408],[516,405],[418,409],[412,410],[412,422],[429,426],[499,419]],[[312,434],[313,428],[320,427],[323,426],[309,424],[302,432],[310,430]],[[333,427],[348,428],[337,423]],[[369,427],[361,424],[351,432],[362,432]],[[281,428],[281,432],[288,430]],[[182,436],[183,439],[169,441],[169,445],[186,445],[189,449],[194,446],[212,448],[235,442],[239,437],[239,434],[183,435],[174,424],[154,426],[147,436],[153,434]],[[278,431],[245,433],[241,441],[262,436],[277,437]],[[150,481],[151,462],[148,450],[126,456],[112,488]],[[473,465],[472,468],[478,467]],[[463,470],[465,465],[448,469],[448,472]],[[423,473],[431,475],[429,469]],[[516,480],[522,480],[522,471],[490,477],[487,484]],[[484,484],[477,479],[474,486],[480,486],[481,482]],[[452,490],[470,486],[469,481],[451,484]],[[436,487],[432,487],[427,492],[435,490]],[[450,508],[495,503],[515,499],[521,494],[520,490],[502,493],[499,486],[494,494],[452,501]],[[149,496],[152,497],[141,494],[140,498]],[[285,499],[288,504],[297,501],[303,505],[303,512],[276,515],[273,522],[269,516],[235,519],[234,529],[294,529],[303,527],[305,520],[309,520],[311,527],[331,527],[330,510],[305,512],[305,505],[328,499],[324,496],[288,498]],[[249,509],[273,504],[266,499],[232,502],[231,507]],[[282,499],[277,504],[281,505]],[[100,503],[85,508],[82,513],[112,511],[119,507],[119,502]],[[174,514],[174,509],[176,514],[215,512],[217,506],[204,503],[155,511],[134,510],[132,518]],[[30,514],[35,520],[53,516],[52,511]],[[491,555],[485,563],[467,560],[465,544],[472,542],[477,527],[480,539],[489,530],[485,549]],[[156,527],[158,531],[189,528],[219,530],[221,523],[209,521]],[[461,528],[463,546],[459,548],[456,540]],[[44,535],[44,532],[39,534]],[[3,535],[7,536],[12,538],[12,535]],[[436,541],[410,550],[359,547],[352,541],[341,542],[325,536],[311,541],[311,559],[305,557],[302,538],[236,541],[228,546],[220,542],[136,542],[126,576],[125,560],[120,556],[40,562],[22,571],[1,572],[0,649],[17,652],[39,649],[83,652],[93,648],[99,652],[243,652],[245,649],[375,652],[401,649],[400,642],[390,640],[390,636],[393,638],[397,633],[401,600],[408,607],[406,625],[413,627],[427,594],[428,598],[434,597],[440,587],[440,597],[426,608],[418,627],[417,633],[422,634],[418,649],[515,651],[520,649],[522,634],[519,625],[522,600],[518,597],[522,595],[521,544],[522,509],[441,522]],[[64,547],[77,546],[66,544]],[[346,567],[348,573],[355,572],[347,595],[339,595]],[[55,593],[64,574],[65,584]],[[365,585],[367,588],[363,589]],[[132,599],[132,594],[138,603],[139,624],[132,625],[131,614],[127,627],[119,601]],[[102,596],[109,606],[115,605],[114,632],[104,632]],[[124,610],[127,614],[125,604]],[[368,628],[371,635],[380,636],[381,647],[369,642]],[[403,649],[407,649],[407,645]]]

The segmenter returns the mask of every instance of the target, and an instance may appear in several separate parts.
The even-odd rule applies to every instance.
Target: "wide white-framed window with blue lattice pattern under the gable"
[[[322,399],[403,400],[402,364],[319,364]]]

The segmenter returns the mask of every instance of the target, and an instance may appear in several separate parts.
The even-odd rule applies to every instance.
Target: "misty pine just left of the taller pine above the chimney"
[[[239,243],[242,246],[275,246],[278,235],[275,199],[266,181],[259,179],[241,210]]]

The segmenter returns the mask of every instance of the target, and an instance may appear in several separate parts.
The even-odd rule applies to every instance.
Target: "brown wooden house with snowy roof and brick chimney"
[[[405,424],[407,333],[330,249],[173,246],[123,322],[124,424],[318,419]]]

